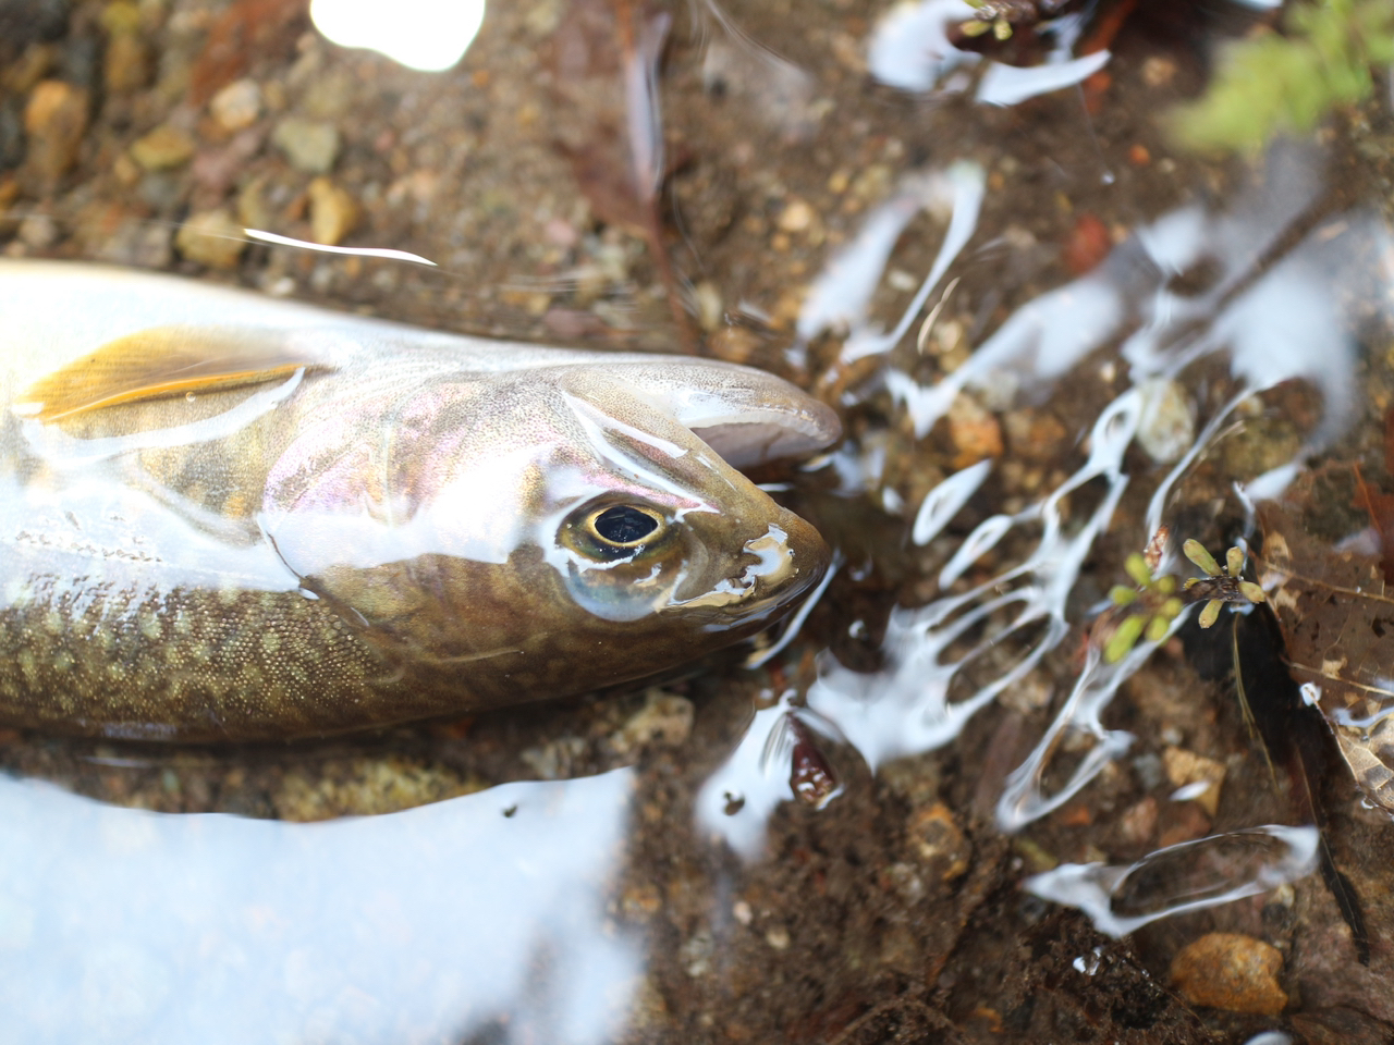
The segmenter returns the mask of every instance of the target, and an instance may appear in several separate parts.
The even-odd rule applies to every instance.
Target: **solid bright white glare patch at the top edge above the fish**
[[[309,18],[340,47],[369,47],[439,72],[464,57],[484,21],[484,0],[309,0]]]

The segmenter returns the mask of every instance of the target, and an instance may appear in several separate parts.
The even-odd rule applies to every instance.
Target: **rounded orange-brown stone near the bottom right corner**
[[[1190,1005],[1277,1016],[1288,996],[1278,986],[1282,953],[1238,932],[1209,932],[1171,961],[1171,982]]]

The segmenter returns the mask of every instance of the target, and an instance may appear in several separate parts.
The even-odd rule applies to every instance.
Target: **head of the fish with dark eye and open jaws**
[[[809,454],[836,418],[746,368],[629,359],[432,386],[328,467],[287,453],[270,536],[399,663],[467,672],[471,706],[650,676],[768,627],[828,549],[733,461]]]

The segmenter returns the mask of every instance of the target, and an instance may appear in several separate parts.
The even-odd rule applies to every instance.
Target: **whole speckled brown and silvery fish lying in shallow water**
[[[776,623],[839,438],[733,364],[0,261],[0,722],[329,736],[650,679]]]

